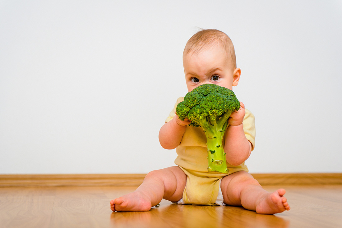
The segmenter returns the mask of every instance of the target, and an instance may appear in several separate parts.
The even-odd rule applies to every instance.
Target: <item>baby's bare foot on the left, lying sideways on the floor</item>
[[[110,201],[112,211],[149,211],[151,202],[140,192],[131,192],[122,197]]]

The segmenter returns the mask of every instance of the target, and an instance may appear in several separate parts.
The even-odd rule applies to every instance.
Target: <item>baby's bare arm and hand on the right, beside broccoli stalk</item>
[[[226,160],[231,165],[240,165],[246,161],[252,151],[252,144],[246,138],[244,132],[245,105],[241,103],[241,108],[234,111],[228,119],[224,152]]]

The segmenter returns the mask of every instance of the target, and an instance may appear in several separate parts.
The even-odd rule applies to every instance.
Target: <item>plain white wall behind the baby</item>
[[[235,44],[250,172],[342,172],[341,15],[323,0],[0,1],[0,174],[173,165],[158,131],[197,27]]]

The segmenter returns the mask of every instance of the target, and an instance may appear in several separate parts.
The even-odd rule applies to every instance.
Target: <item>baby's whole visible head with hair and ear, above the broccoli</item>
[[[183,52],[183,66],[188,91],[206,83],[232,90],[241,74],[236,68],[231,39],[216,29],[201,30],[188,40]]]

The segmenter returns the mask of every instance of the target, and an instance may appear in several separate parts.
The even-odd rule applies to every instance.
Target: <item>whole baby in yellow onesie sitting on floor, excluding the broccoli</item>
[[[206,83],[232,90],[241,75],[231,39],[216,29],[201,30],[189,39],[183,66],[188,91]],[[110,201],[112,211],[149,211],[162,199],[178,204],[243,206],[259,214],[290,210],[285,189],[267,192],[248,173],[245,161],[254,149],[255,125],[243,103],[229,117],[223,138],[228,174],[207,171],[205,133],[189,126],[188,119],[180,120],[175,107],[160,129],[159,142],[163,148],[176,148],[177,166],[149,172],[134,192]]]

